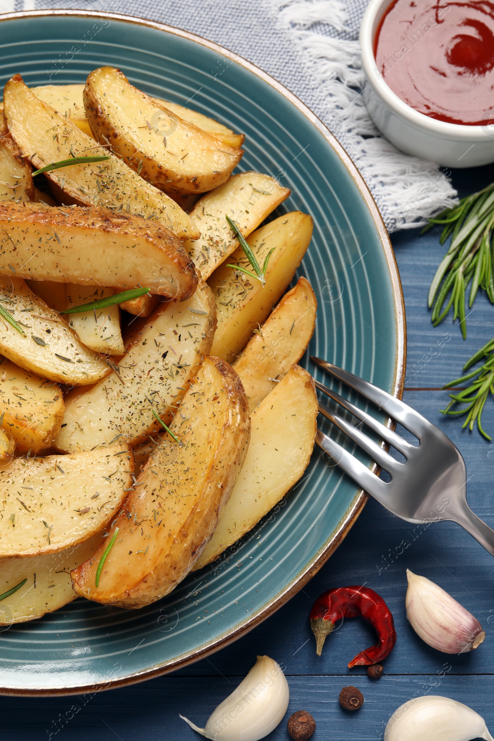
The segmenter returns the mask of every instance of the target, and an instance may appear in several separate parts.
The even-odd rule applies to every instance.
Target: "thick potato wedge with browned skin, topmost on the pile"
[[[230,176],[243,150],[179,118],[138,90],[115,67],[87,77],[84,107],[100,144],[147,182],[169,193],[205,193]]]

